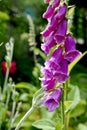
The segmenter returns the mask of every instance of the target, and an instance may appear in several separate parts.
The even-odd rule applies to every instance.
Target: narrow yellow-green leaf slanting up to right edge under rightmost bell
[[[71,70],[73,69],[73,67],[87,54],[87,51],[85,51],[82,55],[80,55],[79,57],[77,57],[72,63],[69,64],[69,68],[68,71],[69,73],[71,72]]]

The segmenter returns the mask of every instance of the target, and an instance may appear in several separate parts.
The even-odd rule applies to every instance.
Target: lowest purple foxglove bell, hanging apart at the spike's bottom
[[[50,112],[54,111],[57,107],[59,107],[61,96],[61,88],[57,88],[53,92],[50,92],[48,94],[44,101],[44,105],[48,108]]]

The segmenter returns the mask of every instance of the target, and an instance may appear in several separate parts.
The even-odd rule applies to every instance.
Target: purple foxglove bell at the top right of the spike
[[[67,6],[66,4],[63,4],[62,6],[59,7],[58,12],[56,13],[55,17],[58,20],[64,19],[66,15],[66,11],[67,11]]]

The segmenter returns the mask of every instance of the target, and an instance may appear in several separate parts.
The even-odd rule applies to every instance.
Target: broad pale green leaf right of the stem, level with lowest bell
[[[72,111],[80,102],[80,91],[77,86],[72,86],[68,94],[68,101],[72,103],[67,107],[66,112]]]

